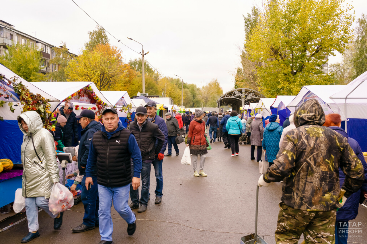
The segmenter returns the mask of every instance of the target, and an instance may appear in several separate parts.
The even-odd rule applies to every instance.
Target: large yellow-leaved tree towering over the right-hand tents
[[[246,42],[266,97],[295,95],[304,85],[331,84],[322,64],[351,40],[352,7],[343,0],[269,0]]]

